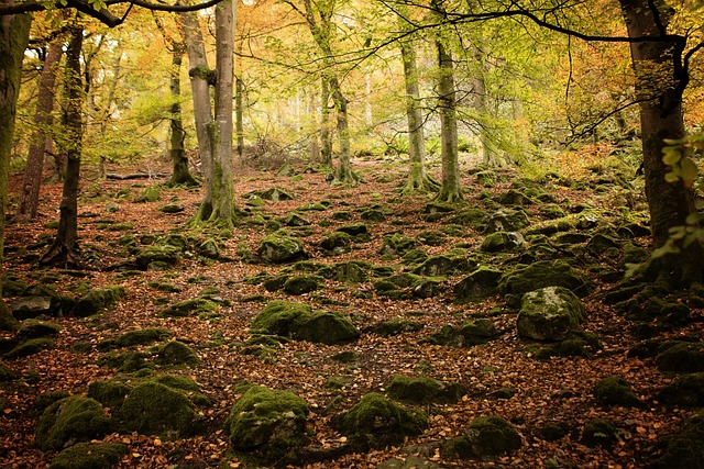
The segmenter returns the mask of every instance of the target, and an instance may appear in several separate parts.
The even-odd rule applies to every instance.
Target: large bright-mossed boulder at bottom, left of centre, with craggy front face
[[[235,450],[276,460],[307,442],[308,412],[293,392],[252,386],[232,406],[224,431]]]

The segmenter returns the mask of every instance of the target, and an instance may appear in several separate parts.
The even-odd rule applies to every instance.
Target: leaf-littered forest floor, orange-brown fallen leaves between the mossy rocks
[[[271,187],[286,189],[296,197],[290,201],[266,201],[255,209],[266,217],[284,217],[287,213],[308,202],[329,201],[326,211],[306,211],[301,215],[311,222],[312,233],[301,237],[310,260],[339,263],[367,260],[380,266],[403,269],[398,258],[381,258],[384,235],[402,232],[419,239],[421,233],[441,233],[435,245],[422,247],[429,255],[446,253],[458,244],[472,252],[479,248],[484,235],[472,227],[461,233],[448,231],[442,220],[424,221],[421,214],[429,202],[425,197],[398,198],[399,185],[405,170],[397,163],[373,159],[354,161],[364,178],[355,188],[330,186],[321,174],[300,174],[296,178],[277,177],[273,172],[240,168],[235,178],[237,203],[246,206],[244,196],[254,190]],[[123,169],[113,169],[123,171]],[[587,171],[588,172],[588,171]],[[463,172],[465,199],[470,206],[484,206],[476,197],[485,190],[477,186],[474,176]],[[602,175],[603,176],[603,175]],[[504,172],[491,192],[506,192],[519,176]],[[586,174],[587,183],[581,190],[559,185],[543,185],[565,210],[568,206],[597,208],[604,213],[618,213],[630,200],[630,216],[645,217],[641,193],[625,194],[623,188],[609,186],[601,190],[590,186],[598,174]],[[591,179],[590,179],[591,178]],[[34,443],[36,416],[33,406],[37,395],[50,391],[85,393],[91,381],[108,379],[114,369],[98,365],[105,355],[97,344],[114,338],[128,331],[163,327],[173,338],[189,344],[197,350],[201,365],[178,372],[188,375],[200,384],[202,393],[212,405],[202,411],[209,423],[209,432],[190,438],[165,440],[154,436],[110,434],[106,442],[120,442],[129,446],[129,454],[117,466],[119,468],[238,468],[245,462],[229,453],[228,437],[222,423],[232,404],[239,398],[235,386],[243,380],[273,389],[289,390],[305,399],[310,406],[308,428],[315,444],[326,447],[343,442],[344,437],[331,425],[336,414],[351,407],[369,392],[384,392],[394,376],[429,375],[433,378],[459,382],[469,393],[455,404],[433,404],[429,411],[429,425],[425,433],[407,442],[422,444],[461,435],[468,424],[481,415],[497,415],[509,421],[522,437],[522,446],[516,453],[490,461],[441,460],[443,467],[574,467],[574,468],[639,468],[657,456],[657,444],[674,432],[692,415],[691,411],[664,406],[654,400],[656,392],[672,381],[672,377],[658,371],[652,360],[627,356],[637,343],[629,332],[629,323],[612,306],[602,303],[603,293],[610,288],[598,281],[600,268],[587,271],[597,284],[594,292],[583,299],[586,311],[584,328],[596,334],[601,349],[591,356],[553,357],[540,361],[530,353],[530,344],[516,333],[516,314],[491,316],[501,332],[501,337],[486,345],[472,348],[455,348],[419,344],[435,331],[447,324],[461,324],[470,317],[486,314],[492,308],[502,305],[499,295],[480,303],[457,304],[452,286],[463,276],[449,277],[443,294],[430,299],[392,300],[374,292],[371,282],[346,286],[327,280],[323,290],[300,297],[287,295],[283,291],[268,292],[261,284],[245,281],[248,276],[261,271],[275,273],[284,266],[267,266],[245,260],[242,253],[255,253],[266,234],[264,226],[242,225],[232,236],[222,242],[221,254],[228,261],[212,261],[199,256],[182,258],[177,267],[166,271],[142,271],[124,276],[119,270],[107,269],[125,259],[119,239],[128,234],[188,233],[185,227],[196,213],[201,193],[198,190],[162,189],[161,200],[136,203],[134,197],[146,186],[163,180],[84,180],[79,200],[79,237],[84,250],[92,253],[99,261],[99,270],[77,273],[61,269],[37,269],[36,255],[46,250],[54,230],[47,224],[57,219],[61,200],[59,185],[42,188],[41,216],[30,223],[10,223],[6,232],[7,258],[3,268],[28,283],[46,283],[59,292],[75,294],[84,287],[121,284],[127,295],[119,305],[99,316],[76,319],[55,317],[61,324],[61,334],[54,346],[22,358],[4,359],[23,381],[23,386],[0,388],[0,467],[42,469],[51,462],[55,453],[43,453]],[[21,175],[11,181],[11,201],[16,196]],[[598,190],[593,190],[593,188]],[[121,194],[121,196],[119,196]],[[628,200],[626,200],[628,199]],[[185,206],[180,213],[166,214],[158,210],[174,201]],[[634,203],[635,201],[635,203]],[[117,203],[118,210],[108,212],[107,205]],[[360,221],[360,213],[370,208],[387,211],[386,220],[369,222],[371,242],[358,243],[346,254],[330,255],[323,252],[320,241],[336,227]],[[540,204],[525,206],[534,224],[547,219],[540,215]],[[348,211],[351,221],[338,221],[331,215]],[[10,210],[12,212],[12,210]],[[102,222],[102,223],[100,223]],[[321,223],[323,222],[323,223]],[[609,223],[609,222],[606,222]],[[110,226],[121,226],[111,230]],[[449,233],[449,234],[448,234]],[[649,238],[640,237],[634,243],[648,246]],[[98,255],[96,256],[96,253]],[[34,256],[33,256],[34,255]],[[512,255],[498,256],[509,259]],[[501,258],[501,259],[499,259]],[[592,259],[601,270],[616,269],[617,259]],[[502,260],[503,261],[503,260]],[[600,264],[601,263],[601,264]],[[154,286],[168,282],[175,287],[166,292]],[[216,291],[228,300],[210,319],[169,317],[158,315],[164,305],[197,298],[204,289]],[[364,292],[365,294],[359,294]],[[243,355],[238,344],[250,338],[250,321],[265,303],[243,301],[263,295],[265,300],[288,299],[312,304],[316,308],[334,310],[349,315],[362,331],[359,339],[343,345],[321,345],[292,340],[283,344],[267,359]],[[11,299],[8,299],[8,304]],[[695,312],[701,315],[701,311]],[[405,332],[383,337],[372,327],[394,319],[409,319],[422,323],[419,332]],[[4,334],[4,333],[2,333]],[[672,334],[698,334],[701,323]],[[10,336],[11,334],[4,334]],[[208,345],[213,337],[222,345]],[[88,343],[91,347],[75,347]],[[342,351],[353,351],[356,360],[343,364],[331,357]],[[636,394],[647,402],[641,407],[605,407],[596,404],[593,397],[595,383],[608,376],[625,378]],[[331,377],[343,377],[342,389],[330,389],[326,382]],[[492,394],[501,388],[514,388],[509,399]],[[613,447],[590,447],[581,442],[581,429],[595,417],[608,417],[617,423],[618,440]],[[539,429],[549,423],[564,423],[566,435],[557,440],[541,438]],[[363,454],[346,454],[322,462],[311,462],[307,468],[375,468],[380,462],[395,457],[398,448],[371,450]],[[250,467],[250,466],[248,466]]]

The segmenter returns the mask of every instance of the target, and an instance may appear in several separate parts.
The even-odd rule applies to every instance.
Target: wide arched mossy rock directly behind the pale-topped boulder
[[[524,293],[544,287],[563,287],[584,297],[591,292],[588,280],[563,260],[539,260],[519,266],[498,280],[498,292],[520,299]]]

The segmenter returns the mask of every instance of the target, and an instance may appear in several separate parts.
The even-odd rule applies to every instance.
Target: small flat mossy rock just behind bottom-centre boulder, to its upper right
[[[430,377],[396,376],[386,388],[386,392],[400,402],[427,405],[457,403],[468,391],[462,384],[446,383]]]

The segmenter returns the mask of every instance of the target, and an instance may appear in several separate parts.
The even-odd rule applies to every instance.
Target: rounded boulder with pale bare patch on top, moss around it
[[[534,340],[562,340],[584,322],[580,299],[561,287],[524,294],[518,312],[518,335]]]

